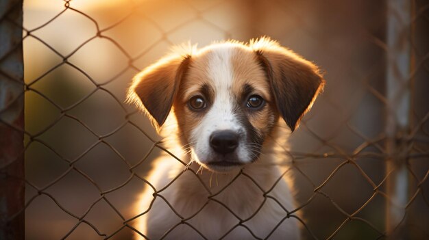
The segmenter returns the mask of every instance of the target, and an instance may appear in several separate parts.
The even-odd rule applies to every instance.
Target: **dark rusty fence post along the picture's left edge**
[[[23,1],[0,0],[0,239],[24,239]]]

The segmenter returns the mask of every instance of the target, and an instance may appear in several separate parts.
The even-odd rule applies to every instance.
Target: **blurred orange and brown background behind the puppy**
[[[133,75],[175,44],[260,36],[326,72],[290,139],[304,239],[384,238],[387,184],[400,169],[387,169],[389,139],[408,153],[395,237],[429,239],[429,4],[410,1],[402,18],[388,2],[24,1],[26,239],[130,239],[123,222],[160,153],[147,118],[124,103]],[[392,51],[388,26],[401,23],[407,47]],[[387,79],[404,64],[389,61],[403,52],[407,127],[391,135],[400,104]]]

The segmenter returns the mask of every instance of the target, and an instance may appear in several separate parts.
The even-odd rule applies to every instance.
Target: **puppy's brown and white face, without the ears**
[[[255,161],[278,119],[258,55],[240,46],[193,57],[173,106],[193,159],[215,171]]]

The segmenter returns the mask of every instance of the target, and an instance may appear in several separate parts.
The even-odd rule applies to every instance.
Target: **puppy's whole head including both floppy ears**
[[[191,157],[218,171],[256,161],[278,120],[293,131],[323,88],[317,67],[268,38],[161,59],[128,98],[160,129],[171,109]]]

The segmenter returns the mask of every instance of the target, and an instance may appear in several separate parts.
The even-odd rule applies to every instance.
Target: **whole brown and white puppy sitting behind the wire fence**
[[[136,237],[299,239],[286,139],[323,84],[269,38],[176,49],[136,75],[127,99],[166,144],[136,204]]]

